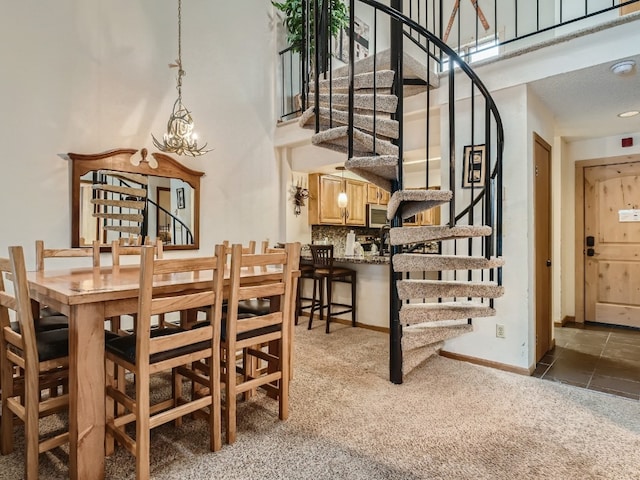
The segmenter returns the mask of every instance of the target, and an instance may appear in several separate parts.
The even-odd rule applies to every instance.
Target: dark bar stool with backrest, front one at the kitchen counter
[[[356,326],[356,271],[351,268],[333,266],[333,245],[310,245],[313,257],[313,299],[311,303],[311,315],[309,326],[313,321],[313,313],[320,311],[320,320],[323,319],[324,309],[327,309],[326,333],[329,333],[331,317],[351,312],[351,326]],[[351,284],[351,305],[337,303],[332,300],[333,284]],[[324,302],[324,292],[327,292],[327,301]],[[332,307],[344,307],[345,310],[332,311]]]

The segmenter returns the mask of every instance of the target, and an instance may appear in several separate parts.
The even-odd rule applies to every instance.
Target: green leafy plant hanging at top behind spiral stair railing
[[[309,12],[310,21],[309,29],[311,33],[314,31],[314,8],[313,0],[307,0],[311,3]],[[347,7],[341,0],[329,0],[331,20],[329,22],[329,31],[331,36],[336,36],[342,28],[345,28],[349,23],[349,16],[347,14]],[[278,10],[285,14],[284,26],[287,29],[287,41],[289,45],[293,47],[295,52],[301,52],[304,47],[304,15],[303,15],[303,2],[302,0],[285,0],[283,2],[274,2],[271,4]],[[311,44],[311,51],[313,52],[313,42]]]

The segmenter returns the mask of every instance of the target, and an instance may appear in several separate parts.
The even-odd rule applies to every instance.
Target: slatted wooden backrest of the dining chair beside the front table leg
[[[220,347],[220,325],[222,318],[222,284],[224,278],[224,247],[217,245],[215,255],[210,257],[191,257],[175,259],[155,259],[155,247],[143,245],[140,262],[140,295],[138,297],[138,315],[136,327],[136,358],[148,361],[154,353],[183,347],[198,342],[212,340],[213,347]],[[211,288],[189,291],[167,297],[162,287],[154,288],[154,281],[171,278],[175,274],[201,275],[212,272]],[[204,274],[202,274],[204,275]],[[171,333],[169,336],[151,338],[151,317],[163,313],[211,308],[210,325],[203,328]]]

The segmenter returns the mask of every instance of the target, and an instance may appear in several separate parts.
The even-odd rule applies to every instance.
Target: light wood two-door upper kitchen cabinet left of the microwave
[[[333,175],[309,175],[309,224],[365,226],[366,185]],[[346,208],[338,207],[338,194],[343,188],[348,199]]]

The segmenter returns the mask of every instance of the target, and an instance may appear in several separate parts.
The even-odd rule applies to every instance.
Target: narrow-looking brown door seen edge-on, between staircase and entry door
[[[534,137],[536,362],[551,349],[551,146]]]

